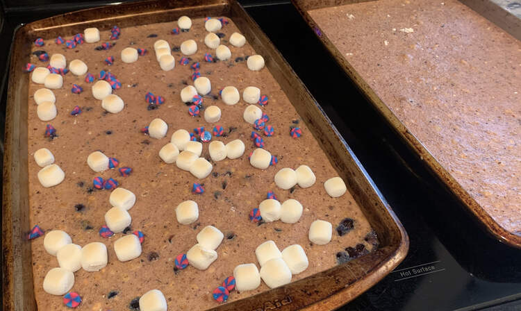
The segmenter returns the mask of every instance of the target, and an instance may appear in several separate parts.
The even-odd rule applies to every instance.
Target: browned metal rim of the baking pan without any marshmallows
[[[309,11],[319,8],[329,8],[333,6],[345,6],[352,3],[360,3],[366,1],[377,0],[292,0],[292,3],[300,12],[307,24],[313,29],[313,32],[322,41],[325,47],[329,50],[332,56],[336,59],[338,64],[344,69],[346,74],[352,78],[354,83],[359,87],[361,92],[367,96],[372,106],[383,117],[387,119],[390,126],[395,129],[402,140],[408,144],[414,153],[425,163],[426,167],[449,189],[450,192],[456,196],[458,201],[468,208],[470,214],[477,219],[477,221],[488,230],[499,241],[504,242],[510,246],[521,248],[521,232],[512,232],[507,230],[499,224],[493,217],[491,217],[486,210],[484,210],[477,201],[465,190],[456,179],[445,169],[436,158],[427,150],[427,148],[415,137],[414,133],[402,123],[402,121],[390,110],[386,103],[384,103],[377,93],[370,87],[369,83],[362,78],[361,74],[356,71],[356,68],[340,53],[339,49],[329,39],[326,31],[322,30],[320,26],[313,20]],[[512,35],[518,40],[521,40],[521,19],[506,12],[491,0],[458,0],[465,4],[472,10],[485,17],[490,22],[493,22],[499,28]]]

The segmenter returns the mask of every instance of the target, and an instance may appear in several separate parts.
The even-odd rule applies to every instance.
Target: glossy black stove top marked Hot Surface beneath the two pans
[[[367,103],[289,2],[240,2],[324,108],[411,240],[395,271],[340,310],[521,310],[521,250],[474,222]],[[20,23],[106,3],[8,8],[0,35],[1,72]],[[7,78],[0,88],[2,116]]]

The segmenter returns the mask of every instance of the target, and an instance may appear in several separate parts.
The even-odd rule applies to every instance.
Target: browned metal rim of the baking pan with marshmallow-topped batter
[[[29,60],[36,37],[73,35],[95,26],[101,30],[169,22],[182,15],[226,16],[235,22],[256,51],[263,51],[266,67],[295,106],[301,119],[347,182],[379,237],[377,250],[289,285],[247,299],[220,305],[215,310],[317,310],[347,303],[377,283],[401,262],[408,251],[402,224],[367,176],[356,156],[315,102],[306,87],[276,51],[270,40],[235,0],[145,1],[94,8],[42,19],[18,29],[11,51],[7,99],[6,153],[3,170],[3,310],[36,310],[33,288],[28,204],[28,76],[22,67]]]

